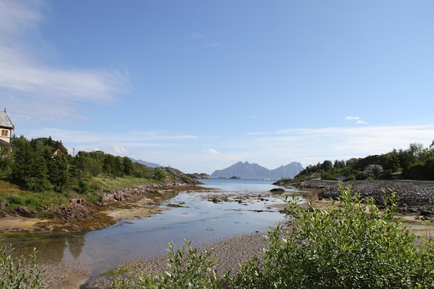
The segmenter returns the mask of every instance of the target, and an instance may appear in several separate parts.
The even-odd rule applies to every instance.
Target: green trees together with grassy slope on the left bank
[[[170,171],[148,168],[132,163],[128,157],[105,154],[101,150],[80,151],[73,157],[61,141],[51,137],[29,141],[24,136],[13,136],[11,143],[12,146],[0,147],[1,182],[19,186],[18,190],[0,191],[0,200],[8,202],[8,210],[22,205],[32,211],[43,211],[44,207],[65,204],[68,198],[76,196],[94,202],[103,191],[174,181]],[[101,182],[101,179],[111,181]]]

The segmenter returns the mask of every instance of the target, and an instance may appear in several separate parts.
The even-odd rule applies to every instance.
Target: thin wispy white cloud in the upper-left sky
[[[44,2],[37,0],[0,1],[0,97],[26,103],[37,100],[32,104],[37,111],[46,103],[52,107],[53,103],[62,107],[64,102],[103,103],[128,89],[128,77],[121,71],[56,67],[38,57],[34,46],[47,45],[38,36],[43,7]],[[29,35],[37,41],[24,41]],[[46,115],[53,118],[55,113],[46,111]]]

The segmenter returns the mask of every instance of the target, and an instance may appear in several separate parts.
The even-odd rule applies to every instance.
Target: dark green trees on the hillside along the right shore
[[[368,165],[373,165],[370,172],[365,172]],[[406,150],[392,150],[383,155],[344,160],[325,160],[322,163],[306,166],[295,180],[301,181],[312,177],[322,179],[434,179],[434,141],[429,148],[422,143],[411,143]]]

